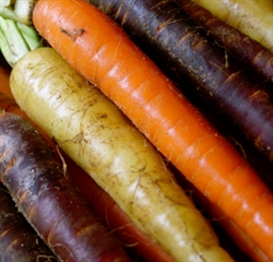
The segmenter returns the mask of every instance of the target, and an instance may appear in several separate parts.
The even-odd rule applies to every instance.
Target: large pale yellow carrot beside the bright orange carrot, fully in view
[[[28,52],[10,80],[28,117],[175,261],[232,260],[155,147],[56,50]]]

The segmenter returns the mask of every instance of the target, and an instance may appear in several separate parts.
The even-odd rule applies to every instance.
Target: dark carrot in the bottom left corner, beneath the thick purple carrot
[[[0,183],[0,261],[59,261],[17,211],[3,183]]]

